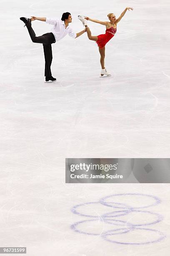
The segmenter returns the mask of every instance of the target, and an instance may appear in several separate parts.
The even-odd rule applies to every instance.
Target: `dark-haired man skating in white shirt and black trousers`
[[[28,32],[30,34],[32,42],[43,44],[44,56],[45,56],[45,81],[55,82],[56,78],[52,77],[51,69],[50,69],[51,63],[52,63],[51,44],[55,43],[55,41],[62,39],[67,34],[69,34],[69,36],[71,36],[72,38],[77,38],[81,36],[83,33],[85,33],[86,29],[84,29],[79,33],[74,33],[72,28],[69,27],[69,23],[72,22],[72,17],[71,17],[71,14],[68,12],[62,14],[61,20],[50,19],[50,18],[39,18],[35,16],[32,16],[31,19],[21,17],[20,20],[22,20],[25,23],[25,26],[28,28]],[[41,21],[45,21],[48,24],[54,25],[51,30],[51,33],[46,33],[42,36],[35,36],[35,32],[33,31],[31,26],[31,21],[33,20],[41,20]]]

